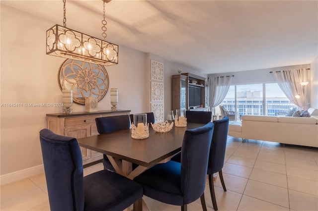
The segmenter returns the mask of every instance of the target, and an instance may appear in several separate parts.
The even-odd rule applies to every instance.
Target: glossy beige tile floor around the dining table
[[[103,169],[101,163],[84,175]],[[318,149],[229,137],[223,176],[215,182],[219,211],[318,211]],[[39,174],[0,187],[1,211],[49,211],[45,176]],[[213,211],[207,181],[205,199]],[[180,211],[144,197],[152,211]],[[200,200],[189,211],[202,211]]]

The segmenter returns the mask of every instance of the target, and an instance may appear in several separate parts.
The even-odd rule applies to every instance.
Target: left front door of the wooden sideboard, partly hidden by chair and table
[[[67,127],[65,128],[65,136],[74,138],[84,138],[90,135],[89,126],[77,126],[77,127]],[[81,156],[83,160],[90,158],[90,150],[80,147]]]

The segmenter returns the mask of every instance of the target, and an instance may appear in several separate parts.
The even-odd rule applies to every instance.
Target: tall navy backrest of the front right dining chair
[[[181,150],[181,192],[189,204],[204,192],[214,124],[186,130]]]

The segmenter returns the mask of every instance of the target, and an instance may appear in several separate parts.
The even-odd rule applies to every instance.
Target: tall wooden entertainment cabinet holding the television
[[[205,78],[191,73],[172,75],[172,110],[204,110]]]

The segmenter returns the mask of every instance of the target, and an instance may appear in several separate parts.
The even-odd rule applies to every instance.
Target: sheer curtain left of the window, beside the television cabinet
[[[233,76],[216,76],[209,78],[209,107],[215,113],[215,107],[220,105],[228,91]]]

